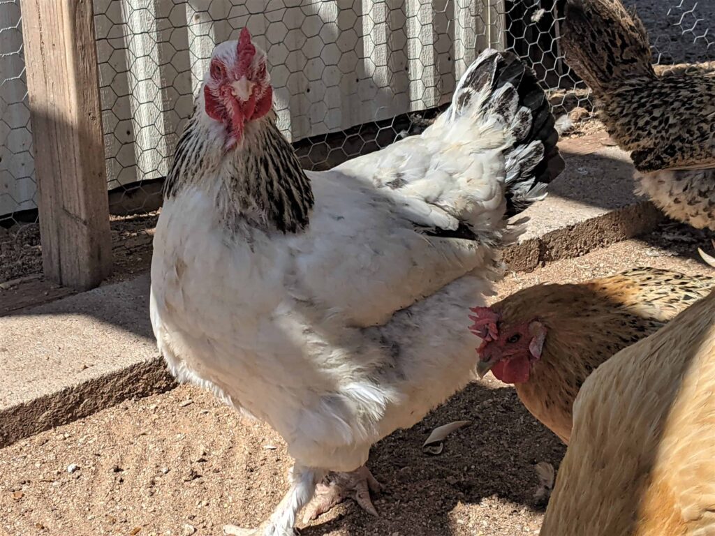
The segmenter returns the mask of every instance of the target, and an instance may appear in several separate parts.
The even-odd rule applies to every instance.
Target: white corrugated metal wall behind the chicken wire
[[[216,43],[267,50],[289,139],[443,104],[503,0],[94,0],[108,187],[164,177]],[[19,4],[0,2],[0,215],[34,207]]]

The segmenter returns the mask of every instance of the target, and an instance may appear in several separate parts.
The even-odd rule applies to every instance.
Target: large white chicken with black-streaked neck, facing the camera
[[[546,96],[511,54],[465,72],[419,136],[305,172],[275,125],[246,29],[216,47],[167,179],[151,316],[179,381],[264,420],[295,459],[259,529],[292,535],[320,487],[375,512],[370,446],[473,376],[470,307],[498,275],[507,218],[563,169]],[[325,482],[322,482],[323,479]]]

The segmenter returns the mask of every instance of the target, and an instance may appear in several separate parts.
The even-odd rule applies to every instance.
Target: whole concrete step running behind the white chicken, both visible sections
[[[586,254],[654,229],[661,214],[633,196],[628,156],[596,134],[561,143],[567,169],[523,215],[506,249],[513,272]],[[174,384],[149,324],[149,276],[0,317],[0,447],[123,399]]]

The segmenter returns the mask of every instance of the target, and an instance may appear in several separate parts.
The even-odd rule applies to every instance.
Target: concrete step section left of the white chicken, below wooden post
[[[0,317],[0,447],[172,387],[149,275]]]

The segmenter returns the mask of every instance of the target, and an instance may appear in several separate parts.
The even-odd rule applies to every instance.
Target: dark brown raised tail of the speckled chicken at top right
[[[654,78],[648,32],[620,0],[559,0],[561,48],[571,69],[600,97],[623,81]]]

